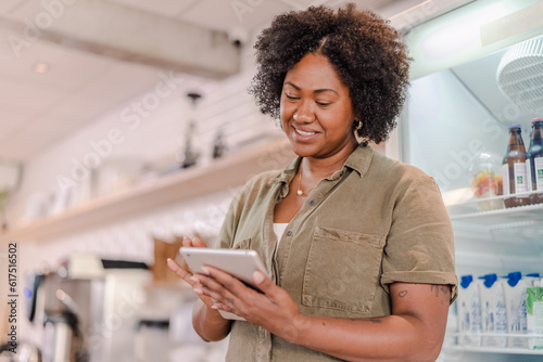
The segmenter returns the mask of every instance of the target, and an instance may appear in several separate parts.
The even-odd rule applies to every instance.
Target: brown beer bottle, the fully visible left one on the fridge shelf
[[[520,125],[509,126],[509,144],[503,166],[504,195],[525,193],[528,191],[526,177],[526,148],[520,135]],[[530,205],[528,195],[508,197],[504,199],[505,207]]]

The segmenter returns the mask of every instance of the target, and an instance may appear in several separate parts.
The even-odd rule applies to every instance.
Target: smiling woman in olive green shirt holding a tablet
[[[199,335],[230,334],[228,361],[437,359],[456,296],[451,222],[433,179],[367,145],[405,98],[399,38],[352,4],[280,15],[260,36],[252,92],[299,157],[245,184],[218,247],[257,250],[272,279],[256,272],[257,293],[168,261],[200,295]]]

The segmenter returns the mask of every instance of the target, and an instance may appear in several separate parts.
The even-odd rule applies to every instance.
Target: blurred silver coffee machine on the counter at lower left
[[[27,318],[42,328],[43,362],[134,361],[147,264],[74,255],[56,270],[27,275]]]

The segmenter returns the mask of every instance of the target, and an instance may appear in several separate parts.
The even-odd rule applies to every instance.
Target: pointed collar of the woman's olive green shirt
[[[369,164],[374,158],[374,148],[371,146],[364,146],[362,143],[353,151],[353,153],[345,160],[343,169],[349,167],[355,170],[359,177],[364,177],[369,169]],[[287,167],[285,167],[275,178],[269,180],[269,184],[285,182],[290,184],[294,176],[296,174],[298,166],[302,157],[296,156]],[[336,173],[334,173],[336,174]],[[342,174],[342,173],[341,173]]]

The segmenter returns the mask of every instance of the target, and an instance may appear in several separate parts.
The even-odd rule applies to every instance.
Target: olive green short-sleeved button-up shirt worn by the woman
[[[394,282],[450,284],[454,300],[453,229],[432,178],[361,145],[341,170],[317,184],[278,243],[274,207],[289,193],[300,160],[244,185],[227,212],[218,247],[256,250],[302,313],[389,315]],[[338,361],[244,321],[232,322],[226,360]]]

